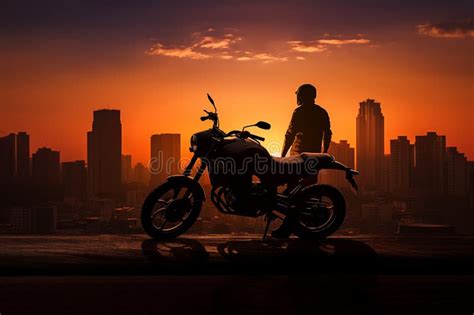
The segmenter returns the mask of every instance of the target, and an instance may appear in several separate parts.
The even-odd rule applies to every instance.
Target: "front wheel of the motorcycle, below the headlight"
[[[158,186],[142,206],[141,221],[145,232],[162,240],[185,233],[201,212],[202,200],[197,195],[186,182],[166,182]]]

